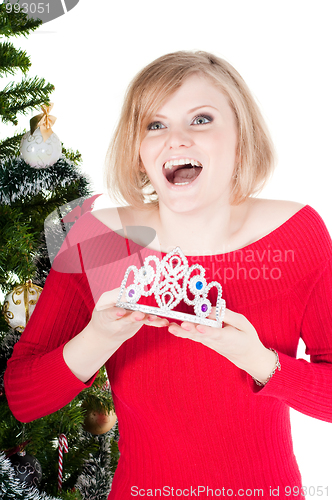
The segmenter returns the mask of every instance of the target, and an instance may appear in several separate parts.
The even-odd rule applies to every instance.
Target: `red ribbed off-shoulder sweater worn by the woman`
[[[227,307],[278,351],[281,371],[259,388],[208,347],[142,327],[106,365],[121,453],[109,499],[231,490],[244,498],[300,497],[289,408],[332,422],[331,250],[323,221],[305,206],[241,250],[188,257],[206,268],[208,281],[222,283]],[[157,252],[90,212],[75,223],[8,362],[6,393],[18,419],[54,412],[86,387],[65,364],[63,346],[89,322],[100,295],[150,254]],[[310,363],[296,359],[300,337]]]

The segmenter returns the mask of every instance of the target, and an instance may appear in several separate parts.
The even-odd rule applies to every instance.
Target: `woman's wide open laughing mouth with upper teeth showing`
[[[202,164],[190,158],[170,160],[164,163],[163,173],[171,184],[184,186],[193,182],[203,169]]]

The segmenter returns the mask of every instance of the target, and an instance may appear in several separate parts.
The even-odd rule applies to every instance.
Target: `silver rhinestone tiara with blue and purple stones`
[[[196,269],[199,274],[191,277]],[[133,273],[133,283],[127,285],[131,273]],[[140,269],[136,266],[127,268],[116,305],[132,311],[220,328],[226,308],[226,302],[222,298],[222,286],[217,281],[211,281],[208,284],[204,276],[204,267],[199,264],[188,266],[188,261],[180,247],[174,248],[162,260],[155,255],[150,255],[146,257]],[[212,310],[212,303],[207,296],[213,287],[218,290],[216,321],[207,319]],[[188,297],[188,289],[194,296],[193,299]],[[152,294],[159,307],[138,303],[142,296],[148,297]],[[186,304],[194,306],[195,315],[172,310],[182,299]]]

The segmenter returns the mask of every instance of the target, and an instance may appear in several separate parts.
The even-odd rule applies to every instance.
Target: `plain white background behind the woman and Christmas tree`
[[[261,196],[310,204],[331,232],[331,14],[329,0],[81,0],[14,43],[31,56],[31,76],[55,85],[53,130],[82,153],[96,193],[104,190],[105,153],[136,72],[182,49],[227,59],[258,100],[278,153]],[[329,486],[332,497],[332,425],[292,411],[292,427],[303,484]]]

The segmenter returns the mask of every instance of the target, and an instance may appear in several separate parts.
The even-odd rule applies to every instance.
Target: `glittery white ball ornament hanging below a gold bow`
[[[62,146],[59,137],[53,134],[44,141],[39,128],[31,135],[24,134],[20,146],[21,156],[34,168],[46,168],[52,166],[61,156]]]

